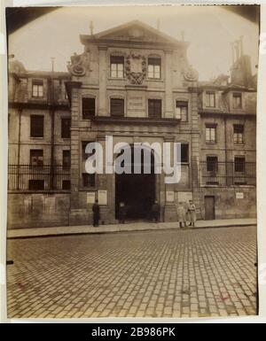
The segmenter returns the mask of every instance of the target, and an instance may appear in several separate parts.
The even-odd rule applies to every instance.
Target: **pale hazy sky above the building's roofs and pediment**
[[[231,43],[244,37],[244,52],[252,58],[253,71],[258,64],[259,25],[221,6],[124,6],[64,7],[43,15],[9,37],[9,54],[14,54],[27,70],[66,71],[67,61],[82,53],[80,35],[94,33],[138,19],[160,31],[190,42],[188,58],[208,81],[229,74],[232,64]]]

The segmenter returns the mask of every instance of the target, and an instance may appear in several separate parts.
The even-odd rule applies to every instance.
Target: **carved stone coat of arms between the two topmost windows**
[[[147,74],[146,58],[141,55],[130,54],[126,58],[125,71],[131,84],[141,85]]]

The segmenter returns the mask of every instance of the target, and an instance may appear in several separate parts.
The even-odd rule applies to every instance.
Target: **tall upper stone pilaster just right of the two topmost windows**
[[[171,50],[167,50],[165,53],[165,117],[174,118]]]

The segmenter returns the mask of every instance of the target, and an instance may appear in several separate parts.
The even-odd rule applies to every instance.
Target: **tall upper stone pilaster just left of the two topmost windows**
[[[108,105],[107,105],[107,72],[108,72],[108,62],[107,62],[107,48],[106,46],[99,47],[99,104],[98,104],[98,115],[107,116]]]

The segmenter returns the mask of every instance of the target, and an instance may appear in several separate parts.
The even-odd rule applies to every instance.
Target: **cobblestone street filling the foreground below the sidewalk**
[[[255,314],[256,229],[8,241],[9,318]]]

